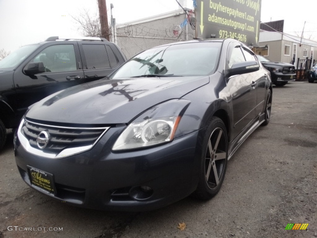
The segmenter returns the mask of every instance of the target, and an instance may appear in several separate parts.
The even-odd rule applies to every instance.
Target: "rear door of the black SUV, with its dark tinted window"
[[[110,45],[104,42],[79,42],[85,82],[108,76],[119,66],[119,60]],[[122,60],[121,60],[122,61]]]

